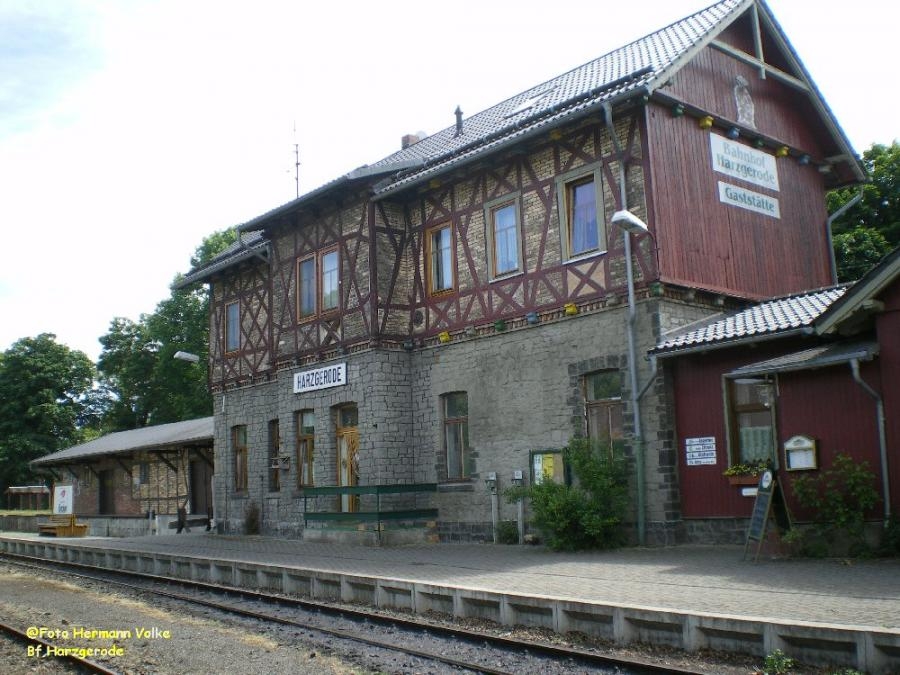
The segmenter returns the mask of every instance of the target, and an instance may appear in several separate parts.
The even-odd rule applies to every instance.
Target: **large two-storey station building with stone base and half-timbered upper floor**
[[[562,480],[586,434],[631,460],[635,538],[675,541],[671,382],[647,351],[831,283],[824,194],[863,178],[755,0],[457,108],[184,279],[212,291],[217,519],[308,536],[371,513],[376,486],[436,486],[400,510],[490,538],[516,515],[492,488]]]

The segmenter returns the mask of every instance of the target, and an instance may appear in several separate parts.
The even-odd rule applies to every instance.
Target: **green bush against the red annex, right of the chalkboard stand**
[[[831,468],[794,481],[794,494],[813,512],[823,541],[846,542],[852,554],[867,552],[866,512],[880,501],[868,462],[857,463],[840,454]]]

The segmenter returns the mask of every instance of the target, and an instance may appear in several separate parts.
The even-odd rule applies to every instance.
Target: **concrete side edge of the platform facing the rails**
[[[221,583],[316,600],[363,603],[418,614],[437,612],[498,624],[580,632],[619,645],[664,644],[763,657],[776,649],[816,665],[887,675],[900,671],[900,630],[584,602],[171,553],[97,549],[77,540],[0,537],[0,551],[106,569]]]

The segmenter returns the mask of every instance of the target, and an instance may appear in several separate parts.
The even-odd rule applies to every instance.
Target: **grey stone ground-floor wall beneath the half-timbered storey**
[[[660,315],[666,321],[708,313],[675,307],[664,299],[638,305],[638,354],[655,344]],[[626,435],[633,432],[627,344],[627,308],[611,308],[574,317],[550,319],[539,326],[467,338],[449,344],[404,351],[371,350],[341,358],[348,384],[296,395],[286,369],[274,381],[228,391],[216,401],[216,517],[229,531],[241,531],[249,504],[261,510],[262,530],[286,536],[302,533],[303,500],[297,487],[296,413],[316,414],[316,485],[336,483],[336,410],[355,403],[359,414],[360,484],[438,482],[439,531],[445,540],[491,537],[491,499],[485,474],[497,473],[501,491],[512,472],[530,479],[529,451],[562,448],[583,433],[581,379],[589,372],[616,369],[625,403]],[[337,361],[335,361],[337,362]],[[327,365],[320,362],[316,365]],[[650,375],[640,358],[639,385]],[[649,543],[675,541],[680,517],[676,455],[672,447],[671,408],[661,374],[641,400],[646,442],[647,527]],[[465,391],[469,403],[469,439],[473,457],[468,480],[447,481],[442,442],[441,396]],[[281,487],[270,490],[268,423],[279,420],[281,454],[289,467],[280,471]],[[231,428],[246,424],[249,485],[234,490]],[[633,461],[633,460],[632,460]],[[634,486],[633,486],[634,487]],[[634,502],[634,500],[632,500]],[[515,505],[500,500],[500,519],[515,518]],[[326,508],[327,505],[326,505]],[[332,507],[333,508],[333,507]],[[634,521],[635,514],[629,516]]]

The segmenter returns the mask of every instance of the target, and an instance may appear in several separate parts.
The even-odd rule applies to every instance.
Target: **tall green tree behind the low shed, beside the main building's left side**
[[[233,230],[206,237],[191,258],[196,267],[212,260],[235,241]],[[135,322],[116,318],[100,338],[97,363],[110,398],[107,431],[165,424],[212,414],[207,389],[209,298],[205,287],[173,290],[152,314]],[[197,363],[174,358],[195,354]]]

